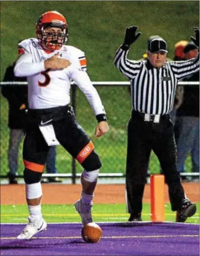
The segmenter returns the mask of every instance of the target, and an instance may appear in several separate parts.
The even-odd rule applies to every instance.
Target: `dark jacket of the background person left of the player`
[[[26,77],[15,77],[13,72],[14,66],[15,63],[6,69],[4,81],[26,81]],[[8,100],[8,127],[11,129],[26,129],[27,85],[3,86],[1,93]]]

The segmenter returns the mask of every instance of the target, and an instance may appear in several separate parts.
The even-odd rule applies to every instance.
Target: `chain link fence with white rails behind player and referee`
[[[26,82],[25,82],[26,83]],[[106,115],[109,122],[109,132],[101,138],[95,138],[94,132],[96,127],[95,115],[92,112],[87,98],[76,86],[72,86],[71,105],[73,105],[78,123],[85,129],[95,145],[98,152],[102,168],[100,177],[123,177],[126,168],[126,125],[131,114],[131,100],[129,82],[92,82],[98,91],[104,104]],[[1,82],[1,86],[8,86],[10,82]],[[17,83],[20,86],[22,83]],[[24,83],[23,83],[24,84]],[[180,84],[188,84],[182,82]],[[189,84],[197,85],[199,82],[190,82]],[[8,144],[9,144],[9,128],[8,128],[8,103],[1,95],[1,178],[8,173]],[[18,155],[18,175],[23,175],[22,161],[22,144],[19,146]],[[75,161],[61,145],[56,146],[56,167],[60,177],[71,177],[72,182],[80,176],[82,172],[81,165]],[[188,155],[185,163],[187,172],[191,172],[191,158]],[[160,164],[157,157],[151,152],[149,173],[160,173]],[[189,173],[188,173],[189,174]],[[194,175],[194,173],[190,173]],[[198,175],[198,173],[196,174]],[[45,175],[45,172],[43,176]],[[55,175],[54,175],[55,176]]]

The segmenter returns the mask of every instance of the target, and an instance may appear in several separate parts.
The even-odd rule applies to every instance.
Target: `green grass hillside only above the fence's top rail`
[[[1,80],[6,66],[17,56],[18,41],[35,37],[39,16],[55,9],[67,18],[68,44],[88,56],[93,81],[125,80],[112,61],[127,26],[137,25],[142,32],[130,53],[139,59],[151,35],[164,37],[169,57],[173,57],[175,43],[189,40],[199,24],[199,1],[2,1]]]

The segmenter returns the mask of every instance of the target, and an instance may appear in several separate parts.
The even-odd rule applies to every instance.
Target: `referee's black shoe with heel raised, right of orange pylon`
[[[189,200],[184,200],[181,208],[177,210],[176,222],[185,222],[187,217],[191,217],[196,213],[196,204],[190,202]]]

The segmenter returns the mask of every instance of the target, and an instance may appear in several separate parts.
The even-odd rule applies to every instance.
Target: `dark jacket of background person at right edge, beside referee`
[[[199,72],[193,76],[184,78],[183,81],[199,81]],[[181,107],[177,110],[177,116],[199,117],[199,85],[184,86],[184,96]]]

